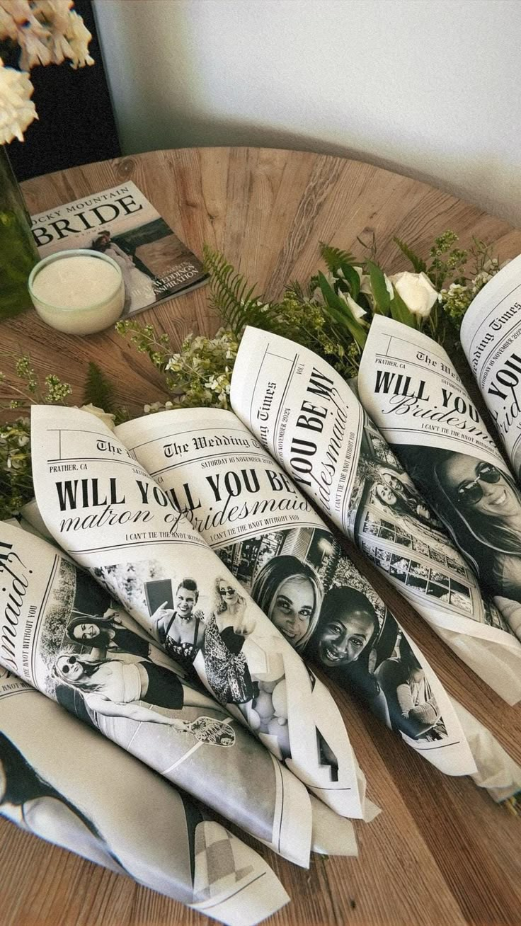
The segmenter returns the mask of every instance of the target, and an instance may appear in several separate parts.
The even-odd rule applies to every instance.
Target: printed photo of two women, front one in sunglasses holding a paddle
[[[160,646],[118,607],[101,588],[93,595],[82,587],[77,573],[74,607],[55,655],[52,676],[56,698],[88,720],[123,718],[169,727],[191,741],[230,746],[235,742],[232,721],[199,716],[186,721],[184,707],[216,712],[203,686],[189,679]],[[84,604],[83,604],[84,603]],[[159,623],[165,610],[155,615]]]

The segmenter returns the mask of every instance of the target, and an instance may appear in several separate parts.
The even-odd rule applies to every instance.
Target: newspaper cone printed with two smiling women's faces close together
[[[251,358],[264,356],[264,345],[253,348],[250,370]],[[284,371],[279,349],[278,355]],[[260,382],[258,374],[255,369],[251,382]],[[286,382],[285,371],[282,375]],[[271,374],[269,382],[276,394]],[[245,394],[244,382],[240,388],[249,405],[252,396]],[[258,408],[255,397],[253,402]],[[294,407],[301,405],[299,400]],[[217,409],[167,411],[122,425],[118,434],[162,488],[175,494],[295,648],[358,694],[440,770],[475,771],[453,707],[425,658],[235,415]],[[170,632],[175,639],[182,628],[174,624]]]

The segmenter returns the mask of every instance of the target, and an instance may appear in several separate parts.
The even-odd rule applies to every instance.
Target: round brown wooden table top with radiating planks
[[[426,253],[450,228],[462,246],[477,236],[501,259],[521,252],[521,232],[424,183],[369,165],[303,152],[192,148],[122,157],[23,184],[31,212],[134,181],[161,215],[201,254],[222,250],[267,297],[304,282],[317,267],[318,242],[354,253],[356,236],[375,232],[378,257],[404,269],[398,235]],[[215,332],[206,290],[141,316],[175,342]],[[31,352],[34,366],[58,372],[76,400],[89,359],[115,383],[136,414],[164,398],[148,360],[116,332],[77,338],[47,328],[33,312],[2,325],[2,348]],[[8,369],[8,364],[4,364]],[[360,558],[357,562],[360,563]],[[521,707],[507,707],[458,662],[378,574],[364,566],[451,694],[472,710],[521,762]],[[287,926],[463,926],[521,922],[521,819],[492,803],[467,778],[448,778],[338,694],[369,796],[383,812],[357,823],[358,859],[313,857],[309,871],[258,850],[278,872],[292,904],[267,922]],[[199,914],[106,872],[0,820],[1,926],[170,926],[203,924]],[[211,920],[212,922],[214,920]]]

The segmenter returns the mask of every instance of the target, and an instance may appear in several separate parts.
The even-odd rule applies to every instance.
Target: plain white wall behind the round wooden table
[[[125,153],[358,157],[521,225],[519,0],[95,0]]]

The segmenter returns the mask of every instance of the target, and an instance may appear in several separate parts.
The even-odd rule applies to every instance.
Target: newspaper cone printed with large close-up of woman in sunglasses
[[[374,320],[360,398],[501,611],[480,628],[485,681],[514,704],[521,696],[521,493],[440,344],[392,319]]]

